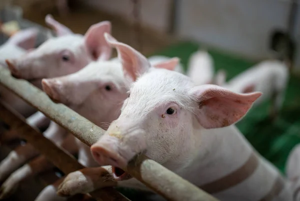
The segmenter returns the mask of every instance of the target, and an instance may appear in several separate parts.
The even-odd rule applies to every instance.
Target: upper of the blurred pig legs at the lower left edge
[[[6,179],[11,172],[38,154],[30,144],[18,146],[11,151],[0,163],[0,181]]]

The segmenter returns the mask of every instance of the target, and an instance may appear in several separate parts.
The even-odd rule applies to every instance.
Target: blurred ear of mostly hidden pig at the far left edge
[[[36,28],[29,28],[19,31],[9,38],[8,43],[14,44],[25,50],[29,50],[34,48],[37,33],[38,29]]]

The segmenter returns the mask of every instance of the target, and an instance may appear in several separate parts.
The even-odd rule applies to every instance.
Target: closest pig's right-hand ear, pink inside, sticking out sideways
[[[197,103],[194,113],[203,128],[221,128],[240,120],[260,92],[237,94],[216,85],[201,85],[191,89]]]

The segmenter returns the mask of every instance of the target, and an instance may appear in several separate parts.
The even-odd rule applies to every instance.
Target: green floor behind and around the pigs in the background
[[[155,55],[179,57],[185,66],[191,53],[198,50],[198,45],[183,42],[173,45]],[[225,69],[227,79],[239,74],[254,63],[225,55],[217,51],[208,51],[214,60],[215,70]],[[236,126],[269,161],[284,172],[285,162],[290,150],[300,143],[300,79],[292,76],[289,80],[285,101],[278,118],[271,122],[267,119],[269,103],[265,102],[252,108]]]

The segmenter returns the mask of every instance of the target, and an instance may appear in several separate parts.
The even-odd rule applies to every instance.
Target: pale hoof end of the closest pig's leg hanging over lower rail
[[[80,171],[69,173],[58,186],[57,194],[70,196],[77,193],[88,193],[93,190],[92,181]]]

